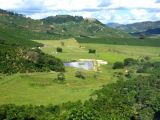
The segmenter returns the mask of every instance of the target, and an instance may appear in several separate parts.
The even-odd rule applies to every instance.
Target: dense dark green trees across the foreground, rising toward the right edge
[[[68,102],[61,106],[2,105],[1,119],[158,120],[160,119],[160,63],[152,63],[152,66],[148,64],[141,63],[145,67],[145,71],[141,73],[147,76],[127,77],[103,86],[101,90],[94,93],[94,97],[84,103]],[[151,72],[151,69],[154,71]]]

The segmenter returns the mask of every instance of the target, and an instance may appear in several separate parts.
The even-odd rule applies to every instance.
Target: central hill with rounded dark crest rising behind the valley
[[[106,27],[97,19],[80,16],[57,15],[42,19],[44,25],[49,26],[49,34],[59,36],[86,36],[86,37],[128,37],[129,35]]]

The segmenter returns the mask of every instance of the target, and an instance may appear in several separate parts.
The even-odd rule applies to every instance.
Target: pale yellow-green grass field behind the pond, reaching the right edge
[[[127,57],[139,58],[142,56],[150,56],[153,59],[157,59],[160,55],[159,47],[78,43],[74,38],[57,41],[36,41],[45,45],[42,48],[45,53],[54,55],[63,61],[77,59],[102,59],[109,63],[114,63],[117,60],[123,61]],[[64,42],[64,46],[61,46],[61,42]],[[63,53],[56,53],[57,47],[62,47]],[[97,52],[96,54],[88,54],[88,49],[96,49]]]

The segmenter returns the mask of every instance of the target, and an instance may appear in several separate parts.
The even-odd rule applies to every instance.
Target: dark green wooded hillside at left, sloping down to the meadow
[[[61,60],[44,54],[38,49],[42,44],[31,41],[49,36],[35,32],[38,25],[39,21],[0,10],[0,73],[64,71]]]

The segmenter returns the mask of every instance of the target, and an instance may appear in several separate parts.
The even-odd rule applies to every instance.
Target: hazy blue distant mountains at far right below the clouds
[[[110,26],[112,27],[112,26]],[[160,21],[146,21],[146,22],[139,22],[139,23],[133,23],[133,24],[127,24],[127,25],[119,25],[116,27],[118,30],[122,30],[128,33],[131,33],[133,35],[139,35],[139,34],[145,34],[145,35],[157,35],[160,34]]]

